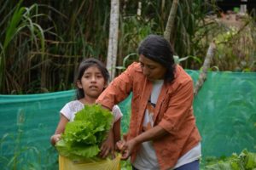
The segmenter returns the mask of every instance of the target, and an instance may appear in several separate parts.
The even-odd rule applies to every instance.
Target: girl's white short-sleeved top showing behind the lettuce
[[[84,109],[84,104],[81,103],[79,100],[73,100],[64,105],[64,107],[61,109],[61,114],[63,116],[66,116],[70,122],[73,122],[75,114],[82,109]],[[114,117],[114,122],[117,122],[119,118],[123,116],[118,105],[113,106],[112,113]]]

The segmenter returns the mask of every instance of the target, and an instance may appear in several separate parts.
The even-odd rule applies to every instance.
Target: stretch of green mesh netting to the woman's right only
[[[198,77],[198,71],[188,71]],[[209,72],[194,111],[203,156],[256,150],[256,73]]]

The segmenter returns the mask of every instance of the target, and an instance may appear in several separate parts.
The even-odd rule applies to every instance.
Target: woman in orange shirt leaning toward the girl
[[[201,136],[193,115],[193,81],[174,63],[165,38],[149,35],[138,48],[139,63],[105,89],[96,103],[111,110],[131,92],[131,122],[122,158],[133,169],[199,169]],[[121,145],[121,146],[120,146]]]

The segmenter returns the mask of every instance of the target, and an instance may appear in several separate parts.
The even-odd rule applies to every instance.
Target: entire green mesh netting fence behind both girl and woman
[[[187,71],[194,80],[198,71]],[[0,95],[1,169],[57,169],[57,153],[49,137],[59,111],[74,99],[74,90],[50,94]],[[119,104],[126,132],[131,96]],[[208,72],[195,97],[196,122],[203,158],[256,151],[256,73]]]

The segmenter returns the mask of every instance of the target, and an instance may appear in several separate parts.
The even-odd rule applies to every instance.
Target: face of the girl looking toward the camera
[[[83,88],[84,97],[98,98],[107,85],[102,72],[96,65],[92,65],[84,71],[84,75],[77,82],[79,88]]]

